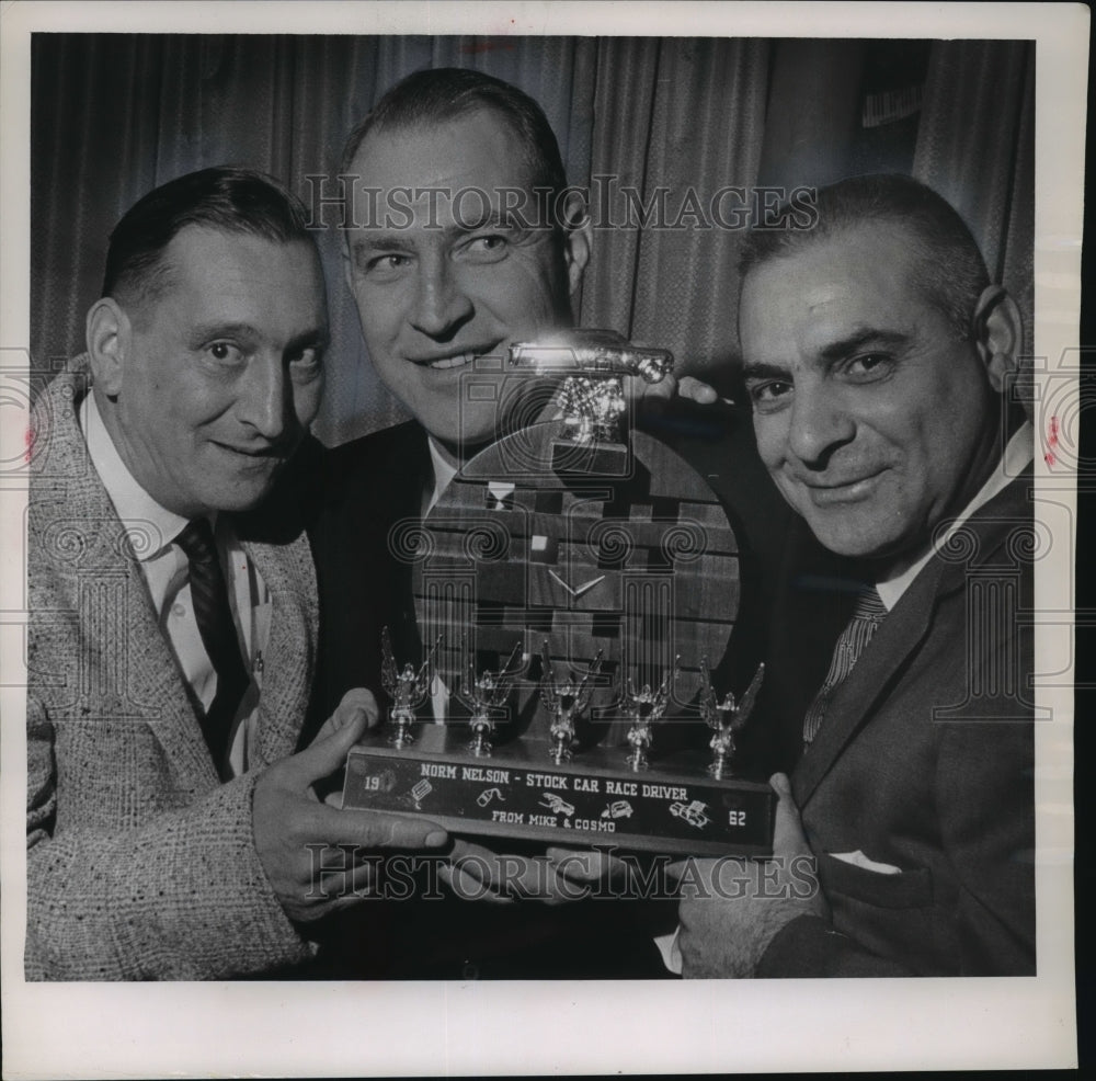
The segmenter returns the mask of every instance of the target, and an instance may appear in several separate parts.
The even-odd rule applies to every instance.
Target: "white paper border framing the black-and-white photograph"
[[[627,9],[627,18],[621,9]],[[0,441],[26,430],[34,31],[1026,38],[1037,42],[1037,382],[1078,382],[1088,11],[1042,3],[5,3],[0,10]],[[1040,494],[1076,513],[1075,477]],[[0,931],[8,1078],[739,1072],[1069,1067],[1073,958],[1073,545],[1036,565],[1035,978],[651,983],[42,985],[23,979],[25,482],[0,483]],[[1072,538],[1071,538],[1072,539]],[[1061,658],[1069,658],[1063,667]],[[1061,670],[1061,671],[1058,671]],[[1050,683],[1051,681],[1046,681]]]

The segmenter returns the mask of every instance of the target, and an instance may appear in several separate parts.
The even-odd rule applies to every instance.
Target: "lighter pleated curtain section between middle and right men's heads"
[[[644,228],[631,218],[621,227],[602,221],[583,325],[669,346],[683,371],[726,366],[743,234],[719,227],[735,224],[741,203],[718,193],[756,182],[768,55],[767,43],[750,39],[601,44],[592,175],[603,181],[594,194],[614,182],[635,189],[632,206],[655,216]],[[722,107],[698,107],[708,102]],[[625,220],[618,204],[609,202],[610,220]]]

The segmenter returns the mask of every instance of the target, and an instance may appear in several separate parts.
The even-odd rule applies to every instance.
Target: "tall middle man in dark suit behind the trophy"
[[[581,198],[567,190],[544,113],[516,88],[479,72],[421,71],[392,88],[350,136],[340,171],[353,178],[355,190],[373,193],[372,200],[349,201],[344,251],[365,344],[378,375],[414,419],[328,456],[323,505],[310,531],[321,603],[317,721],[349,687],[381,694],[383,627],[400,663],[422,656],[412,568],[396,558],[390,531],[401,521],[418,522],[460,464],[505,432],[502,392],[464,392],[473,372],[479,390],[491,389],[491,375],[473,362],[570,327],[570,297],[591,247],[590,221]],[[458,198],[461,192],[472,194]],[[415,195],[407,208],[401,193]],[[632,382],[633,392],[643,389],[641,380]],[[667,379],[649,392],[675,389],[697,402],[715,398],[690,379],[680,387]],[[513,411],[533,416],[527,400]],[[718,431],[708,442],[726,445],[726,430],[734,428],[755,464],[753,473],[728,470],[728,483],[769,491],[749,425],[733,418],[708,428],[713,424]],[[770,491],[769,499],[778,507]],[[747,537],[739,539],[749,546]],[[636,938],[621,940],[614,954],[609,944],[623,918],[617,906],[568,904],[551,913],[541,906],[534,918],[529,904],[517,911],[505,900],[392,903],[387,910],[377,902],[364,918],[347,921],[353,926],[335,953],[366,958],[368,972],[379,976],[664,971],[649,936],[642,942],[647,956]],[[392,928],[410,929],[387,936],[399,944],[391,957],[376,949],[385,936],[375,929],[386,918]],[[350,942],[361,948],[347,948]],[[578,967],[575,958],[582,959]]]

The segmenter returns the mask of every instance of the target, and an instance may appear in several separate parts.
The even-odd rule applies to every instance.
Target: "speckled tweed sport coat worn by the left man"
[[[272,595],[259,767],[222,784],[76,416],[87,362],[33,413],[27,526],[27,979],[224,979],[315,953],[255,853],[251,797],[293,752],[317,637],[305,537],[238,532]],[[255,526],[258,530],[258,526]]]

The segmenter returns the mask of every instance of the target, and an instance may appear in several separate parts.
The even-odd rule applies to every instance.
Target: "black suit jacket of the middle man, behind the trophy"
[[[740,545],[742,604],[719,675],[745,686],[764,648],[757,556],[775,558],[787,523],[783,500],[765,475],[749,414],[675,409],[644,426],[674,445],[708,478],[728,510]],[[408,422],[329,452],[322,505],[310,530],[320,591],[320,660],[315,731],[354,686],[381,705],[380,630],[388,626],[398,660],[421,656],[411,593],[411,567],[388,547],[391,526],[418,520],[431,477],[426,435]],[[698,726],[703,742],[708,732]],[[306,739],[308,735],[306,733]],[[511,851],[522,846],[507,842]],[[544,845],[527,846],[528,854]],[[652,930],[674,925],[673,902],[590,900],[548,908],[518,903],[427,900],[370,901],[326,930],[330,970],[318,975],[373,977],[641,978],[665,976]],[[350,971],[347,972],[347,963]]]

